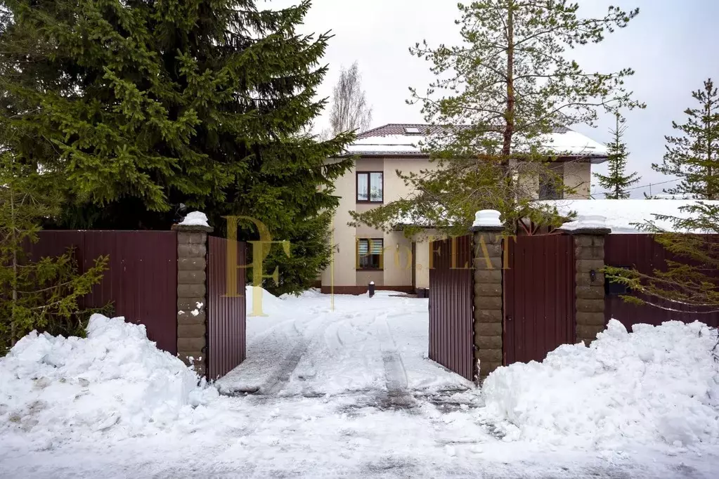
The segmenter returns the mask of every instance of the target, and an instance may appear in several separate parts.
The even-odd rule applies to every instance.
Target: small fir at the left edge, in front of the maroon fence
[[[32,330],[82,335],[78,300],[102,279],[107,258],[78,274],[71,251],[55,258],[29,258],[40,221],[57,215],[52,175],[39,175],[12,154],[0,155],[0,353]]]

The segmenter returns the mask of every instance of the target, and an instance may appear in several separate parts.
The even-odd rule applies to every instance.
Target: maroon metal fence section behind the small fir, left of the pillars
[[[177,353],[177,236],[174,231],[40,231],[27,251],[31,259],[74,249],[78,269],[86,271],[109,256],[102,282],[81,307],[104,307],[127,322],[145,325],[157,347]]]

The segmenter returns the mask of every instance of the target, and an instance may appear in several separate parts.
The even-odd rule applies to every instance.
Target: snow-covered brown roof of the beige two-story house
[[[427,124],[387,124],[357,136],[357,141],[347,148],[348,155],[362,157],[426,157],[418,143],[428,134],[443,131],[442,126]],[[547,135],[546,148],[568,157],[582,157],[592,163],[607,159],[607,149],[587,136],[568,128],[556,128]]]

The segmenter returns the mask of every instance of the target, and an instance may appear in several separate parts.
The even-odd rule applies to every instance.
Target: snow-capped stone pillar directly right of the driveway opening
[[[495,210],[478,211],[474,233],[475,282],[475,363],[480,362],[479,377],[502,366],[503,349],[503,284],[502,284],[502,231],[500,213]]]

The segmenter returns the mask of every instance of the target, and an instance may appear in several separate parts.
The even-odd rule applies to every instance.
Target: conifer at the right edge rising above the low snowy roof
[[[719,200],[719,92],[710,79],[702,90],[692,92],[699,103],[687,108],[687,121],[672,128],[677,136],[665,136],[667,152],[664,162],[651,167],[664,175],[681,178],[676,187],[664,192],[672,195],[690,195],[702,200]]]

